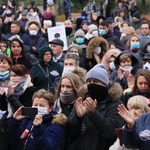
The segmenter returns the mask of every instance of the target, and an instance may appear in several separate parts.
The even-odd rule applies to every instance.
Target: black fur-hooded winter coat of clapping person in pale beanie
[[[117,107],[121,104],[122,94],[118,83],[111,83],[108,96],[93,114],[85,114],[82,118],[76,115],[75,107],[68,117],[67,132],[73,144],[71,150],[108,150],[116,140],[115,128],[122,127],[123,120],[118,114]]]

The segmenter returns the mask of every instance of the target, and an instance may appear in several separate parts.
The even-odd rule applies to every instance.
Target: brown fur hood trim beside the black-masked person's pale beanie
[[[108,85],[108,95],[112,101],[118,101],[123,93],[121,85],[117,82],[110,81]]]

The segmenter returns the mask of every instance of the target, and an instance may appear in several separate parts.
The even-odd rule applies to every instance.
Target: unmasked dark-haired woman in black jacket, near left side
[[[30,59],[24,51],[23,41],[19,36],[12,36],[10,39],[10,49],[11,49],[11,59],[13,61],[13,65],[22,64],[27,69],[31,69],[32,65],[30,63]]]

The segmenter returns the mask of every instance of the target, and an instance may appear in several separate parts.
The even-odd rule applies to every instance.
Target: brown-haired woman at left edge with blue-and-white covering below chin
[[[6,55],[0,55],[0,87],[7,87],[10,80],[12,60]]]

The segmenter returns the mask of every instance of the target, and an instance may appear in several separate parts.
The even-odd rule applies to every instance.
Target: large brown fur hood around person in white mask
[[[86,49],[86,58],[91,59],[94,49],[99,46],[101,46],[103,55],[109,49],[108,42],[103,37],[94,37],[91,39]]]

